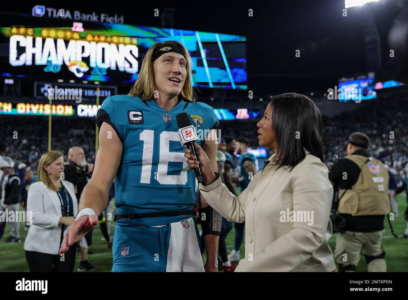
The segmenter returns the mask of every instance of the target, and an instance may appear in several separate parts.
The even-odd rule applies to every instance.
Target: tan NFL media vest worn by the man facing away
[[[388,171],[379,160],[366,156],[349,155],[347,159],[355,162],[361,172],[353,187],[344,193],[339,189],[339,213],[349,213],[352,216],[374,216],[390,213],[388,198]],[[351,179],[351,178],[349,178]]]

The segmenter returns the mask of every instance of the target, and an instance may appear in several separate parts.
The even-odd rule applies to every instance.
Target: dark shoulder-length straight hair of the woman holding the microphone
[[[304,160],[306,148],[323,162],[322,116],[308,97],[284,93],[271,100],[272,128],[277,144],[277,168],[292,170]]]

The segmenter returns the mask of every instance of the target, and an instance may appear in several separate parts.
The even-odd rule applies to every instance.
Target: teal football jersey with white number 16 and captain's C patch
[[[195,174],[188,169],[178,138],[176,115],[187,113],[202,146],[208,132],[218,127],[214,109],[201,102],[181,100],[164,111],[153,99],[125,95],[108,97],[98,110],[97,124],[107,122],[123,143],[115,177],[118,214],[157,213],[194,209]],[[191,216],[191,215],[190,215]],[[157,226],[188,216],[119,219],[120,225]]]

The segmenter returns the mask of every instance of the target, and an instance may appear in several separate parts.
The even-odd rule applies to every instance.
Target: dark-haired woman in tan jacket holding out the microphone
[[[275,154],[234,196],[201,147],[205,200],[231,222],[245,222],[245,258],[235,271],[336,271],[328,246],[333,188],[323,164],[322,117],[306,96],[275,96],[257,123],[259,145]],[[198,167],[184,149],[190,169]]]

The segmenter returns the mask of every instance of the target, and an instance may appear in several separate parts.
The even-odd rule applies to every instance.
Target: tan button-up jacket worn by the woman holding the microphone
[[[245,258],[235,271],[336,269],[328,246],[333,187],[326,165],[306,149],[305,153],[291,171],[276,170],[274,154],[238,197],[228,191],[219,173],[208,186],[199,184],[211,207],[231,222],[245,222]]]

